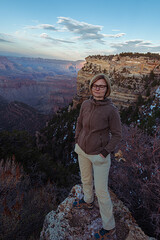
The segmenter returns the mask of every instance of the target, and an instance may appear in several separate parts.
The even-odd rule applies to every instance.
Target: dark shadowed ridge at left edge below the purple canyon
[[[45,127],[48,118],[27,104],[16,101],[8,103],[0,96],[0,131],[24,130],[35,134]]]

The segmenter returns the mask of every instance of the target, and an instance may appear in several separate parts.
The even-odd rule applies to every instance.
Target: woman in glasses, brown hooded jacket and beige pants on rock
[[[121,139],[121,121],[117,108],[108,98],[110,81],[102,73],[90,81],[90,99],[82,103],[77,119],[75,152],[78,154],[84,198],[76,208],[93,208],[93,176],[103,228],[95,239],[116,239],[113,206],[108,192],[110,153]]]

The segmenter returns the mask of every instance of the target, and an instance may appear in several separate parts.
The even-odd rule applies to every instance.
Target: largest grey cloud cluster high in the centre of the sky
[[[100,44],[105,44],[105,38],[120,38],[125,35],[125,33],[118,33],[118,34],[103,34],[102,28],[103,26],[93,25],[85,22],[80,22],[75,19],[69,17],[58,17],[57,21],[58,26],[55,27],[51,24],[38,24],[35,26],[27,26],[25,29],[39,29],[39,30],[49,30],[54,31],[59,34],[62,32],[67,34],[71,33],[74,34],[73,41],[67,41],[66,39],[59,39],[52,36],[49,36],[46,33],[42,33],[40,35],[41,38],[45,38],[47,40],[52,40],[54,42],[63,42],[63,43],[74,43],[75,41],[96,41]],[[116,30],[117,31],[117,30]]]

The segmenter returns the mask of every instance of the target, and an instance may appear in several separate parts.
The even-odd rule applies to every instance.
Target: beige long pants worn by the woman
[[[75,146],[83,185],[84,201],[91,203],[94,200],[93,176],[95,191],[98,198],[103,228],[111,230],[115,227],[113,206],[108,192],[108,175],[111,165],[110,155],[102,158],[100,155],[86,154],[78,144]]]

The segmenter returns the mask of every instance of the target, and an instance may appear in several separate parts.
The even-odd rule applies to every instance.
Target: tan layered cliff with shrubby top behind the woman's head
[[[73,100],[74,106],[88,98],[89,81],[97,73],[109,75],[112,86],[111,98],[118,107],[133,105],[140,94],[146,98],[147,83],[151,84],[155,79],[160,79],[160,58],[120,54],[89,56],[85,60],[86,63],[77,76],[77,96]],[[152,79],[150,79],[151,73],[154,75],[151,76]]]

